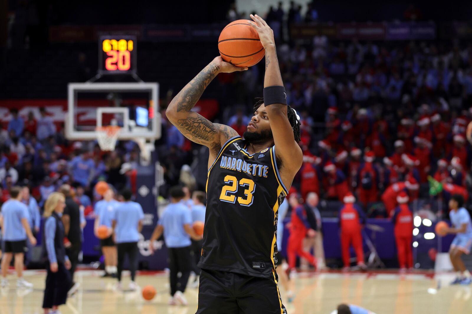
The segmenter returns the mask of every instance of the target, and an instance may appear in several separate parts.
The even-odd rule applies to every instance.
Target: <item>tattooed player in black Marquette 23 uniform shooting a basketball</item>
[[[244,140],[227,125],[191,111],[219,73],[243,71],[216,57],[177,94],[169,121],[195,143],[210,149],[207,210],[203,234],[198,314],[287,313],[275,272],[278,207],[302,165],[300,122],[287,106],[274,35],[251,15],[265,49],[264,99]]]

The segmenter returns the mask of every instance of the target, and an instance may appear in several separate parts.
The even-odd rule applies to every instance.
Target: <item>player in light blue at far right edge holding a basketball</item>
[[[447,233],[455,234],[449,249],[449,257],[457,277],[451,284],[469,285],[472,283],[471,273],[465,268],[461,258],[463,254],[469,254],[472,248],[472,222],[467,209],[463,207],[464,197],[454,194],[449,200],[449,218],[453,224],[447,228]]]

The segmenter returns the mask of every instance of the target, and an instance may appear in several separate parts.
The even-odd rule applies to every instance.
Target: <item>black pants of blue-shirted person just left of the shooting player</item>
[[[188,277],[192,271],[192,256],[190,256],[191,247],[168,248],[169,251],[169,270],[170,270],[170,295],[174,296],[177,291],[185,292]],[[177,273],[182,273],[177,278]]]

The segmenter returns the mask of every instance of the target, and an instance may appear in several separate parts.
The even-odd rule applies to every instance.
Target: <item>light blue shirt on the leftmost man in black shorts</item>
[[[26,240],[26,231],[21,223],[23,218],[29,221],[28,207],[16,199],[6,201],[1,207],[3,217],[3,240]]]

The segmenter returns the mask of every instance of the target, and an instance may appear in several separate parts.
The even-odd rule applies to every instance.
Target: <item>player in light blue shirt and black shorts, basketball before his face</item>
[[[115,209],[120,204],[117,200],[113,198],[114,192],[112,189],[108,189],[105,194],[103,194],[103,199],[99,200],[95,204],[95,224],[94,231],[95,236],[98,237],[97,231],[100,226],[107,226],[110,228],[113,221],[113,215],[115,214]],[[107,239],[100,240],[101,251],[105,257],[105,274],[103,277],[116,277],[117,269],[117,247],[113,241],[113,236],[110,234],[110,237]]]

